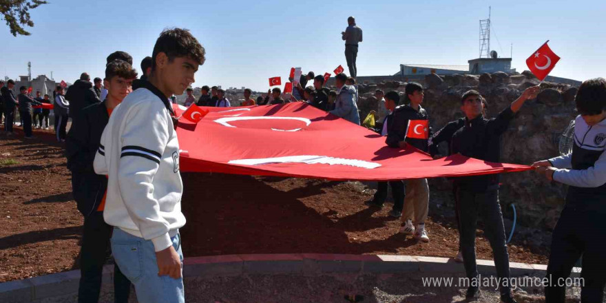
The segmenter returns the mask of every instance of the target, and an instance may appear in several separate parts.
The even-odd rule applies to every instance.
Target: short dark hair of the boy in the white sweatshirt
[[[206,52],[198,42],[198,39],[191,35],[189,30],[182,28],[163,30],[160,33],[158,40],[156,40],[156,45],[154,45],[154,52],[151,54],[152,71],[156,70],[156,57],[160,52],[166,54],[169,62],[173,61],[176,57],[186,57],[202,65],[206,60]]]

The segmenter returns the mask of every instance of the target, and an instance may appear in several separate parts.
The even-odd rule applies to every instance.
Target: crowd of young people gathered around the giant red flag
[[[180,211],[183,188],[170,98],[185,90],[185,105],[231,106],[224,91],[216,86],[203,86],[197,101],[193,90],[186,89],[194,83],[194,74],[204,62],[202,45],[189,31],[175,28],[160,34],[152,56],[141,63],[140,79],[132,67],[132,57],[118,51],[107,57],[105,77],[96,79],[94,85],[90,76],[83,73],[67,94],[61,85],[56,87],[56,136],[57,140],[66,141],[74,198],[85,217],[79,302],[97,302],[110,248],[116,260],[116,302],[127,302],[131,284],[142,302],[184,302],[179,229],[184,226],[185,217]],[[312,80],[313,86],[306,86]],[[14,82],[7,84],[0,91],[5,129],[12,132],[10,112],[14,111],[7,107],[19,105],[25,125],[31,125],[32,105],[49,102],[49,96],[41,99],[38,93],[34,99],[25,87],[20,87],[16,98],[12,93]],[[337,90],[328,90],[324,85],[324,77],[309,72],[293,87],[293,94],[286,94],[288,101],[277,87],[257,100],[247,89],[242,105],[305,102],[359,125],[355,79],[341,73],[335,76]],[[461,96],[459,109],[463,118],[437,132],[427,122],[427,138],[410,138],[406,133],[410,121],[429,120],[423,106],[424,87],[408,83],[404,98],[395,91],[377,90],[379,110],[374,130],[385,137],[388,147],[415,147],[433,158],[441,158],[448,155],[439,154],[437,147],[446,142],[448,154],[498,163],[501,136],[508,132],[510,121],[525,101],[536,98],[539,92],[539,86],[529,87],[497,116],[487,118],[485,98],[470,90]],[[604,251],[601,242],[606,236],[605,221],[601,220],[606,214],[606,80],[585,81],[576,95],[576,109],[579,116],[572,153],[539,161],[533,167],[547,180],[570,185],[565,209],[554,231],[547,273],[554,279],[566,278],[583,255],[585,285],[581,298],[583,302],[601,302],[606,283],[606,263],[600,258]],[[45,120],[48,127],[48,112],[34,114],[40,125]],[[72,127],[65,134],[68,115],[72,117]],[[31,127],[27,129],[25,125],[25,138],[31,138]],[[428,242],[427,179],[379,182],[375,196],[366,204],[383,207],[388,187],[394,199],[389,216],[401,218],[399,232]],[[477,221],[482,218],[501,278],[501,302],[515,302],[510,285],[506,284],[510,269],[499,205],[499,175],[454,178],[453,188],[460,236],[458,258],[463,261],[466,276],[479,279],[474,243]],[[479,293],[479,286],[472,284],[466,297],[475,298]],[[545,287],[547,302],[563,302],[564,293],[564,286]]]

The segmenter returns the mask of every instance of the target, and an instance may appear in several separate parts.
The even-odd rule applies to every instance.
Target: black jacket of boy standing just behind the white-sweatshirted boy
[[[67,169],[72,171],[74,200],[84,216],[96,211],[107,189],[107,178],[95,174],[93,167],[107,121],[109,114],[105,102],[89,105],[78,116],[74,116],[65,140]]]

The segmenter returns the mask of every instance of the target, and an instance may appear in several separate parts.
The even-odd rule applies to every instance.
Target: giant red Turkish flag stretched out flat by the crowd
[[[385,145],[366,127],[302,103],[226,109],[203,107],[199,123],[177,127],[182,171],[328,180],[401,180],[472,176],[530,169],[460,154],[432,160]],[[178,107],[177,112],[182,111]]]

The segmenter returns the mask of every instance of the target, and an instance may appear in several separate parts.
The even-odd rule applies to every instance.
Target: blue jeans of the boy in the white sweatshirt
[[[183,262],[180,234],[177,233],[171,240]],[[132,236],[114,227],[111,242],[114,260],[126,278],[134,284],[139,302],[185,302],[183,278],[158,276],[156,252],[150,240]]]

